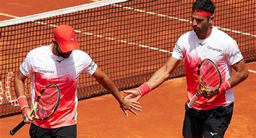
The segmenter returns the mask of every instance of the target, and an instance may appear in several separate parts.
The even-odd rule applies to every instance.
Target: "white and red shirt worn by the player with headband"
[[[213,27],[211,35],[206,39],[198,39],[194,31],[189,31],[178,39],[173,49],[173,58],[184,59],[187,94],[189,102],[198,89],[197,67],[201,60],[212,60],[221,73],[224,82],[232,75],[231,65],[242,60],[242,54],[237,42],[228,34]],[[227,106],[234,101],[233,89],[228,89],[225,93],[214,95],[211,99],[199,96],[193,108],[206,110],[215,106]]]

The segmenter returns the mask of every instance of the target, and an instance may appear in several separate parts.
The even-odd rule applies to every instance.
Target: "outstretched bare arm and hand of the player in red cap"
[[[126,110],[129,110],[136,115],[137,113],[134,110],[142,111],[142,107],[136,105],[136,103],[139,102],[125,99],[124,96],[118,91],[113,81],[107,77],[107,75],[102,70],[100,70],[99,67],[96,68],[96,71],[92,74],[92,76],[97,80],[97,82],[99,82],[100,85],[107,89],[107,91],[109,91],[114,96],[114,98],[118,100],[120,108],[122,108],[126,116],[128,116]]]

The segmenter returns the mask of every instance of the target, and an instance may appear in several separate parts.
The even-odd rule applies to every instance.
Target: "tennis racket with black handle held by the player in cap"
[[[45,86],[37,96],[36,102],[31,110],[31,118],[39,120],[50,118],[59,106],[59,99],[60,92],[58,85],[49,84]],[[14,135],[25,124],[25,121],[22,121],[14,129],[10,130],[10,134]]]

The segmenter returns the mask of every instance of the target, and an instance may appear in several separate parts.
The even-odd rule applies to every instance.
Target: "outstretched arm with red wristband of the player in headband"
[[[132,89],[129,91],[124,91],[128,95],[126,95],[125,98],[127,99],[133,99],[134,101],[138,101],[144,94],[143,92],[140,92],[139,89],[146,89],[145,91],[151,91],[154,88],[157,88],[161,84],[163,84],[164,81],[168,80],[171,77],[172,72],[174,69],[178,66],[181,60],[178,60],[176,58],[171,57],[164,66],[159,68],[154,74],[150,77],[148,81],[146,81],[147,84],[143,84],[137,89]],[[150,89],[147,89],[150,87]]]

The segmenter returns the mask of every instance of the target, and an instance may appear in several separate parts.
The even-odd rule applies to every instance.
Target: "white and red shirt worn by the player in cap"
[[[90,56],[80,50],[73,50],[69,58],[55,56],[51,45],[31,50],[19,70],[26,76],[32,74],[31,105],[38,93],[48,84],[57,84],[60,89],[60,102],[57,111],[46,120],[35,120],[42,128],[58,128],[77,123],[77,80],[85,71],[93,74],[97,65]]]

